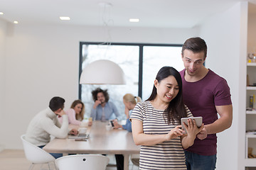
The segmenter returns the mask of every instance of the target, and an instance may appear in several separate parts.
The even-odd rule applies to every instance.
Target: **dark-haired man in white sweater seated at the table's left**
[[[63,111],[65,100],[60,97],[53,97],[49,107],[38,113],[29,123],[26,132],[26,140],[33,145],[43,148],[50,142],[50,135],[58,138],[65,138],[68,135],[68,116]],[[57,116],[63,117],[60,124]],[[77,135],[78,130],[70,130],[70,134]],[[50,153],[52,154],[52,153]],[[55,159],[63,154],[52,154]]]

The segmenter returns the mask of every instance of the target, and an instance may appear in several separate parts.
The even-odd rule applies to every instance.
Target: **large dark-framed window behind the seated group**
[[[124,94],[141,96],[146,100],[151,94],[156,73],[161,67],[171,66],[178,71],[183,69],[181,45],[151,45],[133,43],[112,43],[106,45],[95,42],[80,42],[80,72],[87,64],[96,60],[110,60],[123,69],[127,84],[124,85],[91,85],[79,86],[79,98],[85,103],[85,117],[90,117],[92,90],[100,87],[107,89],[112,101],[122,118],[124,115]],[[114,118],[114,117],[113,117]]]

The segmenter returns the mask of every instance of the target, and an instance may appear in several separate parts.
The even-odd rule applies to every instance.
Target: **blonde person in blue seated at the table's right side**
[[[123,97],[123,102],[124,102],[124,113],[127,116],[127,122],[125,125],[120,125],[117,123],[117,120],[113,120],[114,123],[114,129],[122,128],[124,130],[127,130],[128,132],[132,132],[132,123],[129,120],[130,112],[134,109],[136,104],[138,102],[141,102],[142,98],[139,96],[133,96],[132,94],[125,94]],[[132,112],[131,112],[132,113]]]

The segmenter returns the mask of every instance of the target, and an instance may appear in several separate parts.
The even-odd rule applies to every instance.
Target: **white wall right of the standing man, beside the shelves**
[[[233,101],[233,125],[218,134],[217,169],[244,169],[247,3],[208,18],[201,37],[208,44],[206,67],[228,81]]]

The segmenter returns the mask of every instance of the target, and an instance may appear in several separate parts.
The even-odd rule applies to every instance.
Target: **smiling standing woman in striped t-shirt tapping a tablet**
[[[183,104],[181,76],[173,67],[162,67],[151,96],[137,103],[130,120],[136,145],[141,145],[139,169],[186,169],[183,148],[193,145],[198,132],[196,122],[185,124],[181,118],[193,116]]]

